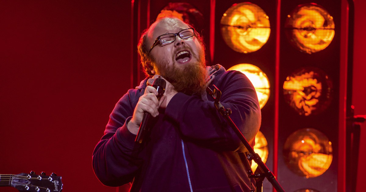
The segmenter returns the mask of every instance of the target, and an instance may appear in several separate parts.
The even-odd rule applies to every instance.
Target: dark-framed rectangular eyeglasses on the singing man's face
[[[186,39],[186,38],[192,37],[193,35],[194,35],[193,28],[183,29],[182,31],[179,31],[178,33],[167,33],[164,35],[160,35],[159,37],[157,37],[155,39],[155,42],[154,42],[153,46],[151,46],[149,52],[151,52],[151,50],[154,48],[154,46],[158,45],[158,42],[160,43],[161,46],[164,46],[166,44],[171,44],[172,42],[174,42],[176,36],[179,36],[181,39]]]

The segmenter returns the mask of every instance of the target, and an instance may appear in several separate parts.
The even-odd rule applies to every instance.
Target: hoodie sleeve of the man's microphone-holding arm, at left
[[[102,184],[117,187],[131,182],[139,168],[139,159],[132,155],[136,135],[128,131],[139,91],[129,90],[116,104],[104,136],[93,152],[93,170]]]

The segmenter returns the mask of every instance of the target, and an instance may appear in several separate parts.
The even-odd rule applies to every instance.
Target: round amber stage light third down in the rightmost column
[[[288,168],[306,178],[323,174],[332,163],[332,143],[313,128],[299,129],[288,136],[283,156]]]

